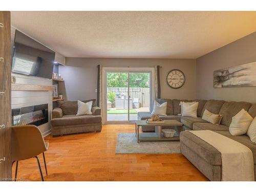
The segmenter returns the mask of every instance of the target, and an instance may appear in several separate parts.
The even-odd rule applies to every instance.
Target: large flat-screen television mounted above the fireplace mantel
[[[51,79],[55,52],[15,31],[12,72]]]

